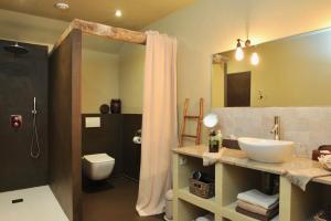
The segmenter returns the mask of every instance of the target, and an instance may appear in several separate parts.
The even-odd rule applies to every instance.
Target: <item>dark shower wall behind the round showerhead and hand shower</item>
[[[47,183],[47,48],[23,44],[28,54],[3,50],[0,41],[0,192]],[[38,102],[41,156],[30,157],[32,104]],[[21,129],[10,126],[11,115],[22,115]]]

